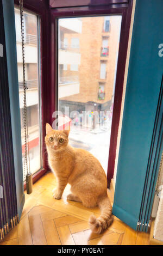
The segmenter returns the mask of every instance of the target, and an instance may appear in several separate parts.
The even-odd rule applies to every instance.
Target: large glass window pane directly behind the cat
[[[59,118],[58,129],[71,121],[70,144],[90,151],[105,172],[120,31],[121,15],[58,22],[58,110],[66,117]],[[61,47],[65,38],[66,50]]]

